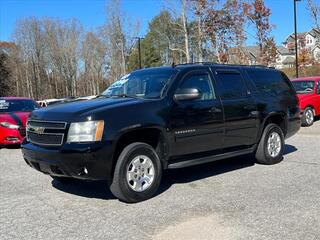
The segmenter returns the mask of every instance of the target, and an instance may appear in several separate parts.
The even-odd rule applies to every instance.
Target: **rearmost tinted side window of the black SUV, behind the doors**
[[[279,71],[247,69],[247,73],[260,92],[279,94],[291,90],[285,75]]]

